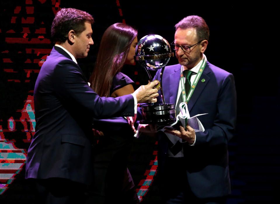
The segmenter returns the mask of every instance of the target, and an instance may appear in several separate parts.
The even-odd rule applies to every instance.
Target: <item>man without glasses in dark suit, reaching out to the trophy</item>
[[[158,96],[156,82],[117,98],[99,97],[88,86],[76,59],[93,45],[92,23],[90,14],[73,8],[60,10],[53,20],[56,44],[36,80],[36,133],[26,161],[38,203],[84,203],[91,183],[92,118],[131,116],[137,103]]]

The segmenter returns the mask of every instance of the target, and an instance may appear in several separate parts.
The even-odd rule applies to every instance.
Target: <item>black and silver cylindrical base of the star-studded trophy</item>
[[[143,120],[140,124],[171,125],[176,121],[174,103],[160,103],[142,106]]]

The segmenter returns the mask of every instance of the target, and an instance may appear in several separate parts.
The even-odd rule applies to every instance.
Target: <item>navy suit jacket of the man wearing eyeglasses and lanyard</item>
[[[180,64],[166,66],[163,73],[163,92],[166,103],[176,104]],[[161,70],[154,79],[159,80]],[[202,80],[204,79],[204,80]],[[204,81],[204,82],[202,82]],[[159,93],[159,96],[161,93]],[[157,99],[162,103],[161,98]],[[187,179],[198,198],[230,194],[228,141],[233,137],[236,124],[236,90],[234,77],[207,62],[188,103],[190,116],[199,116],[205,131],[196,133],[194,146],[183,143]],[[159,132],[159,173],[164,168],[168,138]]]

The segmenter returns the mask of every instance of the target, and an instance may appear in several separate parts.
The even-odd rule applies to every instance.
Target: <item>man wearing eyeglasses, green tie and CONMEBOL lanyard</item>
[[[180,102],[187,103],[191,117],[208,114],[198,117],[203,132],[189,125],[159,131],[161,198],[163,203],[226,203],[231,193],[227,144],[236,124],[234,77],[207,61],[209,28],[203,18],[185,17],[175,28],[171,45],[179,64],[164,70],[166,103],[176,104],[176,114]],[[160,72],[154,79],[159,80]],[[158,102],[162,103],[160,97]]]

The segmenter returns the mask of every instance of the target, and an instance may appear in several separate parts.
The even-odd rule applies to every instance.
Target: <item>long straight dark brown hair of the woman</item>
[[[121,71],[137,31],[123,23],[115,23],[104,32],[98,55],[89,79],[99,96],[109,97],[112,81]]]

